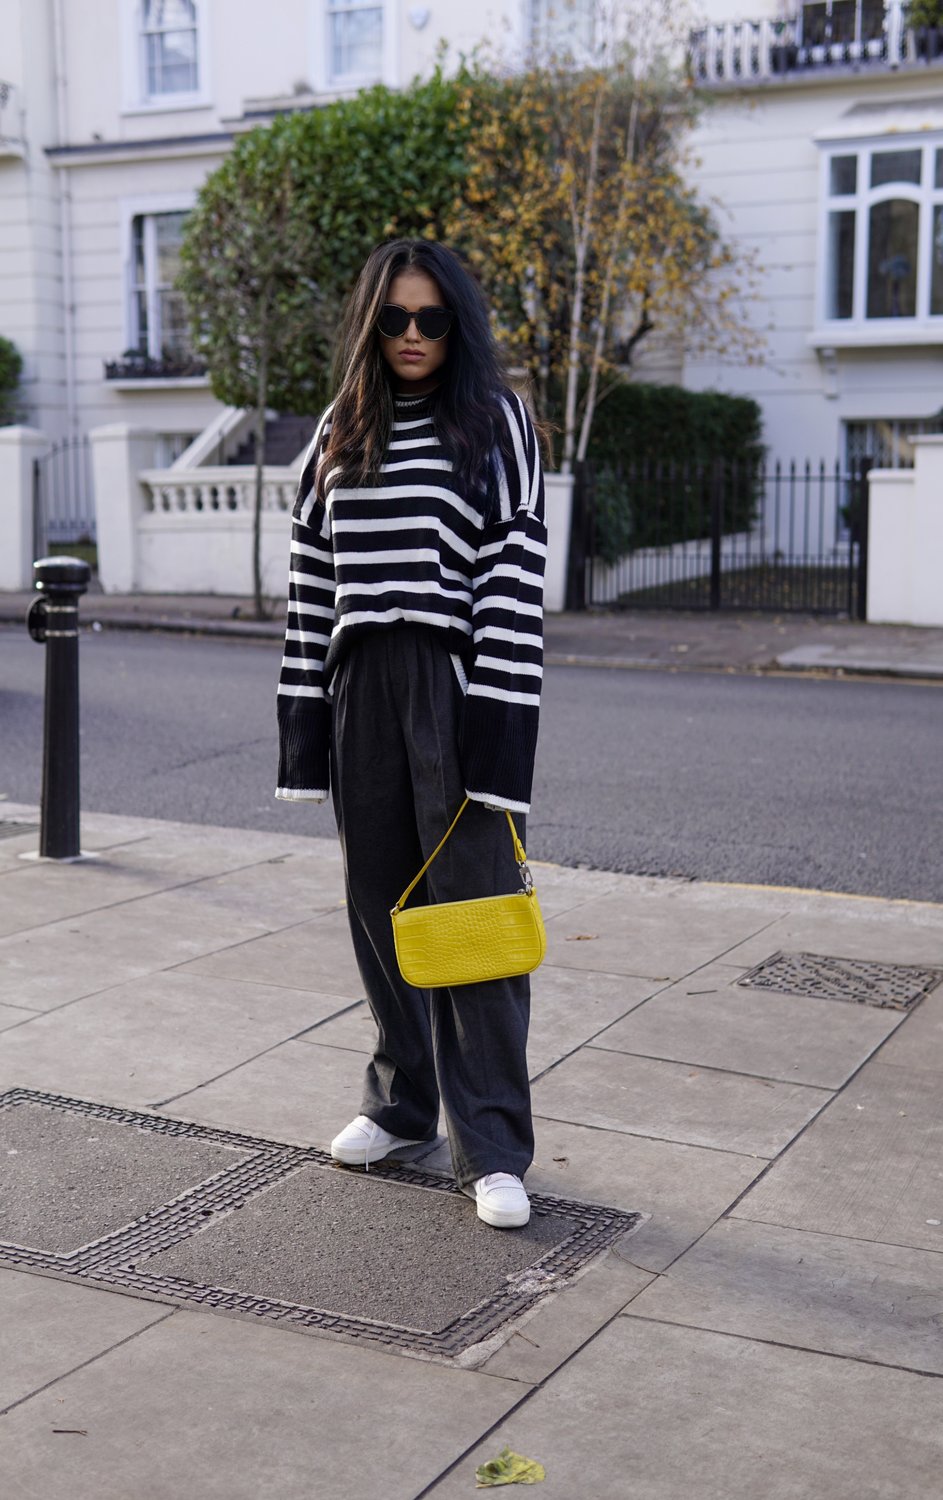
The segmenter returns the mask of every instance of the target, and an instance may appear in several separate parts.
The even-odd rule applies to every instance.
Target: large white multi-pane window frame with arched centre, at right
[[[921,183],[882,183],[871,188],[871,159],[883,152],[922,153]],[[819,273],[816,290],[814,345],[855,344],[943,344],[943,314],[930,312],[931,255],[933,255],[933,210],[943,206],[943,188],[934,188],[936,153],[943,152],[943,130],[894,134],[855,140],[832,138],[822,142],[820,159],[820,213],[819,213]],[[856,190],[838,196],[831,192],[831,166],[837,156],[855,156],[858,160]],[[916,202],[921,216],[918,225],[918,267],[913,318],[868,318],[868,228],[874,204],[904,198]],[[850,318],[829,318],[829,214],[853,210],[855,224],[855,288]]]

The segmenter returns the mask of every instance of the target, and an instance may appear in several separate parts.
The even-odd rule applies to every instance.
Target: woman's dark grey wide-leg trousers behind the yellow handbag
[[[529,976],[417,990],[399,972],[390,921],[465,796],[462,710],[447,645],[423,626],[360,638],[334,676],[334,812],[354,952],[379,1030],[363,1113],[394,1136],[432,1140],[441,1098],[466,1185],[489,1172],[523,1178],[534,1156]],[[523,818],[514,822],[523,838]],[[507,818],[469,802],[411,903],[519,886]]]

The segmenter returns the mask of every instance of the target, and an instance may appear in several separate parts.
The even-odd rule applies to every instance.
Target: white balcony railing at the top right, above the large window
[[[790,21],[727,21],[693,32],[690,58],[694,81],[736,84],[789,74],[943,62],[943,30],[909,30],[903,0],[889,0],[883,16],[865,15],[850,38],[832,36],[831,21],[817,15],[825,9],[810,4]],[[813,15],[817,24],[811,24]]]

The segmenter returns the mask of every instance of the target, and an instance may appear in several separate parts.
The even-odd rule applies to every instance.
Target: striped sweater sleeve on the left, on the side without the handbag
[[[318,422],[304,456],[291,514],[274,795],[292,802],[322,802],[330,790],[331,706],[324,682],[324,658],[334,622],[334,552],[330,514],[315,498],[315,477],[328,430],[330,406]]]

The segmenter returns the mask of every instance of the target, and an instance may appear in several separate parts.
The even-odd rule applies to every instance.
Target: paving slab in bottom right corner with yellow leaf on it
[[[541,1500],[915,1500],[939,1486],[936,1377],[615,1318],[430,1496],[474,1492],[507,1443]]]

